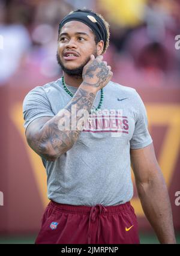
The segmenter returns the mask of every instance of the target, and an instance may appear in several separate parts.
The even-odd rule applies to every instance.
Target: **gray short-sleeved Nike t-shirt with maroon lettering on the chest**
[[[77,88],[67,86],[72,93]],[[93,106],[100,102],[98,91]],[[25,129],[38,117],[53,117],[71,100],[61,79],[31,90],[23,102]],[[43,160],[49,200],[76,206],[115,206],[130,201],[130,148],[152,143],[139,94],[114,82],[104,87],[98,115],[85,124],[73,147],[55,162]]]

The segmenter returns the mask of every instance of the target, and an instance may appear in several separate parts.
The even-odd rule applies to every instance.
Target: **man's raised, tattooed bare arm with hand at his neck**
[[[83,69],[82,84],[64,109],[61,109],[53,118],[40,117],[29,124],[26,129],[26,139],[29,146],[40,156],[54,161],[70,150],[77,141],[83,128],[80,126],[73,129],[74,127],[71,126],[74,118],[71,109],[76,107],[76,112],[84,111],[87,120],[98,90],[106,86],[112,77],[110,67],[102,59],[102,56],[97,58],[94,58],[94,55],[91,56]],[[76,115],[77,124],[81,118],[82,116]],[[70,126],[62,129],[66,121]]]

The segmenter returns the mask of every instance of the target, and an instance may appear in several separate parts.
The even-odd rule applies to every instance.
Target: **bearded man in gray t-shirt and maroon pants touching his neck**
[[[36,243],[139,243],[130,163],[158,239],[175,243],[145,106],[136,90],[110,81],[108,44],[102,16],[68,14],[58,35],[62,78],[23,102],[26,138],[43,160],[50,199]]]

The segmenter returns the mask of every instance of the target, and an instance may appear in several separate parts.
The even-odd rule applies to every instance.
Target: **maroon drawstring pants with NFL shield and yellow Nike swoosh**
[[[130,202],[118,206],[71,206],[50,201],[35,243],[139,243]]]

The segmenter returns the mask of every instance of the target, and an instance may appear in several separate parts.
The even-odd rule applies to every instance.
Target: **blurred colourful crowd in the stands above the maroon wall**
[[[113,81],[130,87],[179,87],[179,0],[0,0],[0,85],[32,76],[37,83],[59,78],[59,22],[83,7],[101,13],[110,24],[104,59],[112,66]],[[42,84],[32,88],[37,85]]]

